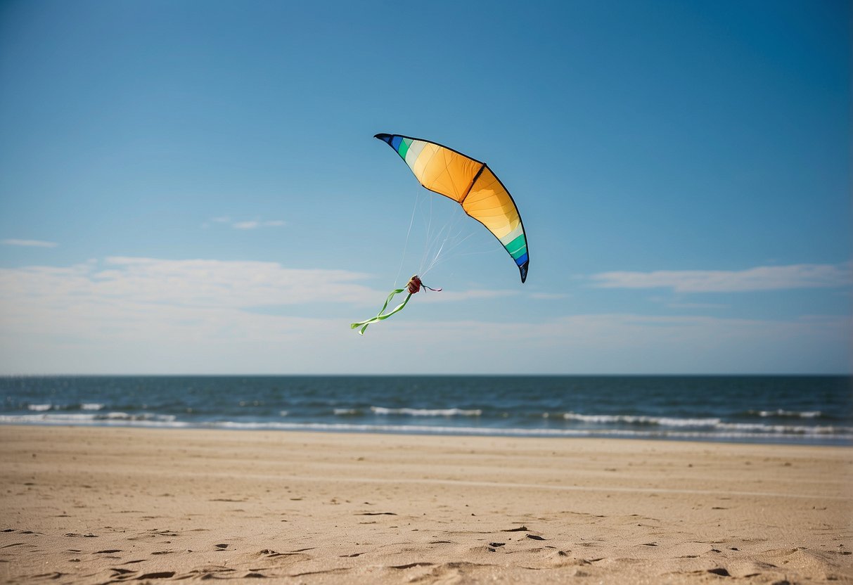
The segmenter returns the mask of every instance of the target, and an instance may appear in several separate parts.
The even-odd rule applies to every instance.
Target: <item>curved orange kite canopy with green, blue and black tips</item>
[[[421,185],[455,200],[500,240],[527,279],[527,238],[512,195],[488,165],[435,142],[398,134],[377,134],[406,161]]]

